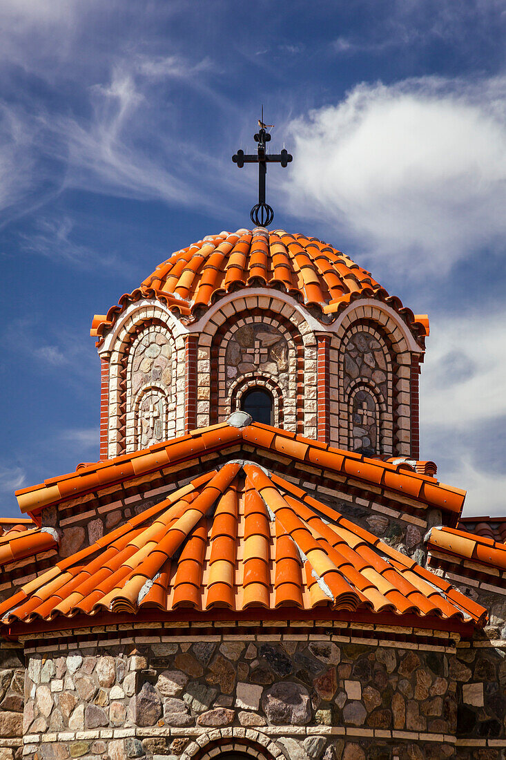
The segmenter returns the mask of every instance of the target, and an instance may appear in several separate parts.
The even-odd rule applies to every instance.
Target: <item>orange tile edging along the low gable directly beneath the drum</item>
[[[397,494],[400,500],[406,494],[413,496],[419,500],[420,508],[425,508],[426,505],[437,506],[459,515],[463,506],[464,491],[438,483],[435,477],[406,469],[402,461],[395,464],[368,458],[260,423],[251,423],[242,429],[229,426],[227,423],[203,430],[197,429],[181,438],[171,439],[132,454],[122,454],[121,457],[100,464],[90,464],[81,467],[75,473],[51,478],[40,485],[17,491],[17,501],[21,511],[34,515],[44,507],[58,504],[65,499],[82,496],[84,493],[100,492],[114,483],[127,483],[129,478],[136,477],[141,472],[157,473],[167,464],[193,460],[211,451],[224,454],[229,446],[235,447],[238,443],[253,446],[260,455],[264,451],[285,454],[299,463],[302,470],[307,464],[311,467],[321,467],[330,473],[338,473],[343,479],[353,478],[355,483],[361,482],[365,490],[368,486],[379,487],[391,494]],[[224,473],[220,477],[224,477]],[[296,496],[296,492],[294,495]],[[307,496],[309,505],[310,499],[311,497]]]

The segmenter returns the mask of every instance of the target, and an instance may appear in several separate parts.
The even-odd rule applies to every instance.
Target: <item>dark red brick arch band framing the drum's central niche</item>
[[[211,344],[210,344],[210,397],[213,399],[220,398],[220,380],[225,382],[224,378],[220,378],[220,374],[224,373],[224,361],[223,355],[220,356],[220,349],[223,343],[226,344],[227,337],[232,337],[232,334],[236,329],[242,327],[242,325],[258,324],[261,319],[269,319],[269,324],[275,328],[280,329],[281,334],[284,334],[286,340],[290,342],[294,350],[294,363],[295,363],[295,375],[296,375],[296,414],[295,414],[295,427],[296,432],[304,432],[304,369],[305,369],[305,344],[302,334],[299,329],[296,328],[293,323],[286,318],[286,316],[271,311],[270,309],[261,309],[256,307],[248,310],[247,312],[238,312],[232,318],[227,321],[223,321],[217,330],[214,332]],[[290,350],[290,349],[289,349]],[[222,367],[223,363],[223,367]],[[261,373],[253,373],[251,375],[254,378],[261,379],[264,375]],[[244,375],[243,375],[244,377]],[[286,401],[286,400],[285,400]],[[228,407],[230,407],[230,394],[226,401]],[[222,404],[225,406],[225,404]],[[284,404],[286,410],[286,404]],[[217,423],[219,420],[220,407],[219,404],[213,404],[210,407],[210,423]],[[283,414],[286,420],[286,414]]]

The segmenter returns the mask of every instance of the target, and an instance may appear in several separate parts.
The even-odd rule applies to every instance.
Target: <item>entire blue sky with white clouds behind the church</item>
[[[421,456],[506,514],[505,95],[503,0],[3,0],[2,514],[98,458],[93,314],[248,226],[261,103],[275,226],[429,312]]]

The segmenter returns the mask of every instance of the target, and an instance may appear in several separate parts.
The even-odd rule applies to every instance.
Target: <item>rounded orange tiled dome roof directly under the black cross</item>
[[[96,314],[90,334],[100,344],[128,303],[141,298],[154,296],[182,318],[191,318],[194,309],[241,287],[280,288],[326,314],[337,314],[361,296],[376,298],[396,309],[415,334],[429,334],[427,315],[413,315],[337,249],[315,238],[261,228],[210,235],[174,252],[140,287],[125,293],[118,306]]]

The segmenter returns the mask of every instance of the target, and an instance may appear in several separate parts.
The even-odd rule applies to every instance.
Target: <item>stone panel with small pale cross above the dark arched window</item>
[[[248,372],[280,378],[288,372],[288,343],[274,325],[243,325],[229,340],[225,364],[227,388]]]

